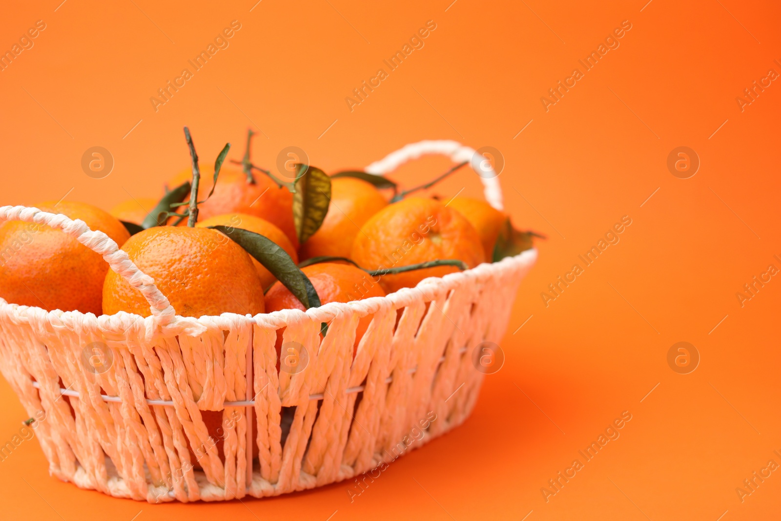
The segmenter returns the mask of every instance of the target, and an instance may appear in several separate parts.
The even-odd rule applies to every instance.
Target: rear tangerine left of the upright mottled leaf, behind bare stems
[[[278,187],[265,173],[253,172],[255,184],[247,182],[241,170],[223,166],[212,197],[198,205],[198,220],[209,219],[226,213],[246,213],[266,219],[284,231],[291,243],[298,248],[298,236],[293,223],[293,194],[286,187]],[[173,177],[169,187],[177,187],[191,180],[192,170],[184,170]],[[198,201],[203,201],[212,190],[214,166],[201,166],[198,184]],[[183,223],[187,223],[184,219]]]

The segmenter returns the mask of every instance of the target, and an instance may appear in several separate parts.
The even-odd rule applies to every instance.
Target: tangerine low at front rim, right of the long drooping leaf
[[[301,271],[312,281],[317,296],[320,298],[320,304],[329,302],[351,302],[362,300],[369,297],[384,297],[385,291],[372,280],[372,276],[362,269],[358,269],[351,264],[337,264],[335,262],[323,262],[321,264],[312,264],[306,266]],[[266,312],[279,311],[280,309],[301,309],[305,311],[304,305],[295,298],[287,287],[280,282],[274,285],[266,293]],[[358,328],[355,330],[355,350],[358,349],[358,342],[366,333],[369,323],[372,322],[372,316],[368,315],[358,321]],[[282,332],[277,331],[276,351],[280,353],[282,347]]]

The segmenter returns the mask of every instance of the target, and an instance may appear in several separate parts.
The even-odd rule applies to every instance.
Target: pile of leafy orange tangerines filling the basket
[[[277,176],[251,163],[251,131],[237,166],[223,168],[226,145],[213,168],[201,168],[187,128],[185,137],[192,166],[159,200],[131,199],[110,213],[79,202],[36,205],[111,237],[180,316],[254,316],[383,296],[517,255],[540,237],[515,230],[479,199],[410,196],[467,163],[401,191],[361,171],[329,176],[297,164],[292,180]],[[100,255],[21,221],[0,225],[0,297],[48,310],[150,315],[141,292]]]

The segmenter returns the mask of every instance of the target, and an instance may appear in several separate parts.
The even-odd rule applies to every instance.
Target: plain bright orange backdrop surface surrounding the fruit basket
[[[779,5],[59,2],[13,2],[0,17],[2,49],[36,20],[47,25],[0,72],[0,204],[67,193],[109,209],[129,194],[155,197],[188,164],[185,124],[204,162],[226,141],[239,158],[252,126],[265,134],[255,162],[273,166],[296,145],[326,171],[421,139],[493,146],[512,219],[548,239],[501,343],[505,366],[486,377],[471,418],[353,503],[350,482],[227,504],[113,499],[48,476],[25,441],[0,462],[4,519],[732,521],[781,511],[781,472],[744,502],[735,491],[769,459],[781,463],[781,280],[742,308],[735,296],[769,264],[781,268],[781,84],[744,112],[735,100],[770,68],[781,73]],[[149,98],[231,20],[241,30],[230,47],[155,112]],[[425,46],[350,112],[344,98],[427,20],[437,29]],[[540,97],[622,20],[632,29],[620,47],[545,112]],[[80,167],[95,145],[116,162],[104,179]],[[680,145],[701,159],[686,180],[666,166]],[[396,178],[412,184],[447,166],[426,159]],[[435,192],[477,194],[478,181],[463,171]],[[625,215],[633,223],[619,244],[546,308],[540,292]],[[678,341],[701,355],[693,373],[668,366]],[[625,410],[619,439],[546,502],[540,488]],[[4,380],[0,411],[4,444],[27,417]]]

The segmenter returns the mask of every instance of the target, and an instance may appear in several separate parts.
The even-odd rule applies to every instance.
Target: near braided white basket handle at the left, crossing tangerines
[[[3,221],[24,221],[25,223],[45,224],[55,230],[62,230],[93,252],[102,255],[111,269],[119,273],[131,286],[144,295],[155,322],[165,326],[170,323],[176,311],[170,305],[164,294],[157,289],[152,277],[141,273],[141,270],[130,260],[126,252],[119,249],[116,242],[102,231],[90,230],[80,219],[69,219],[61,213],[42,212],[34,207],[2,206],[0,207],[0,223]]]

